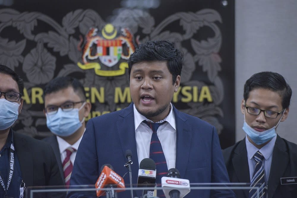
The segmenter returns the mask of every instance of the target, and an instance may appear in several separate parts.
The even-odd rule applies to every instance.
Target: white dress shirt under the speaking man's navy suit
[[[168,170],[175,168],[176,161],[176,123],[171,103],[170,106],[169,115],[164,119],[168,123],[162,124],[157,130]],[[139,164],[144,158],[149,158],[150,142],[153,134],[151,128],[142,122],[144,120],[149,121],[149,119],[138,113],[134,105],[135,137]]]

